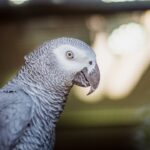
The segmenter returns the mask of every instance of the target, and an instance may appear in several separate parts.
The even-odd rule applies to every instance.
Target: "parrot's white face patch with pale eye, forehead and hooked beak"
[[[99,85],[100,71],[96,62],[94,51],[84,42],[74,38],[59,38],[59,43],[53,53],[61,69],[72,74],[75,85],[88,87],[93,93]]]

